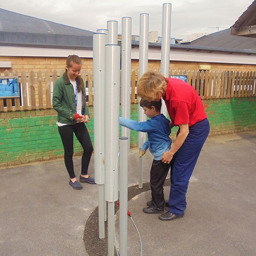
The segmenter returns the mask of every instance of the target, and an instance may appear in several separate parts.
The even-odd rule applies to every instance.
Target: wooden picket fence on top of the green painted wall
[[[18,76],[17,71],[9,73],[6,70],[0,74],[3,76],[18,76],[20,83],[20,98],[0,99],[0,112],[23,111],[52,108],[52,90],[55,81],[62,76],[64,70],[57,73],[49,70],[44,73],[39,70],[24,70]],[[170,76],[187,76],[187,82],[191,84],[201,99],[224,99],[233,97],[256,96],[256,72],[239,71],[200,71],[200,70],[170,70]],[[87,105],[93,106],[93,71],[82,70],[81,77],[86,85]],[[137,103],[138,70],[131,72],[131,103]]]

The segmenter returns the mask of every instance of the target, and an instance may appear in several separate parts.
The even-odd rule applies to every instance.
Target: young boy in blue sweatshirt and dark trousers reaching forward
[[[168,174],[170,164],[163,163],[161,157],[163,153],[169,151],[172,140],[169,137],[171,133],[170,121],[160,113],[162,102],[152,101],[148,102],[145,99],[140,100],[140,106],[144,110],[144,114],[148,116],[149,120],[145,122],[137,122],[134,120],[119,118],[119,123],[134,131],[142,131],[148,133],[148,140],[142,146],[140,157],[149,151],[154,156],[154,160],[150,170],[150,186],[151,186],[151,201],[147,202],[148,207],[143,208],[143,212],[163,213],[165,204],[163,195],[163,183]]]

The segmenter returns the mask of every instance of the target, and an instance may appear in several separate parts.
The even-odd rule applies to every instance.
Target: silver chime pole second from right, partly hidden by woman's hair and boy
[[[139,77],[148,70],[148,20],[149,15],[147,13],[140,14],[140,49],[139,49]],[[139,109],[139,121],[146,121],[146,116],[143,113],[143,108]],[[146,134],[139,132],[138,134],[138,147],[142,148],[143,143],[146,140]],[[139,158],[139,188],[143,187],[143,157]]]

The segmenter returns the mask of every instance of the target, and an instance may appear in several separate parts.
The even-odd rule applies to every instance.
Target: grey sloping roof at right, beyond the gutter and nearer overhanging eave
[[[201,47],[256,50],[256,38],[243,38],[236,35],[230,35],[230,28],[210,35],[204,35],[201,38],[183,44]]]

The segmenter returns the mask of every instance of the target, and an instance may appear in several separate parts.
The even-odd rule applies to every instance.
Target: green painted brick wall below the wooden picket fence
[[[211,125],[210,134],[256,129],[256,97],[203,100]],[[93,142],[93,108],[87,125]],[[131,119],[138,119],[137,104],[131,105]],[[121,130],[121,129],[120,129]],[[174,139],[177,128],[172,129]],[[131,131],[131,145],[137,132]],[[74,152],[81,154],[74,136]],[[53,109],[0,113],[0,167],[63,157],[63,147]]]

